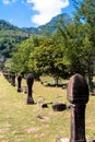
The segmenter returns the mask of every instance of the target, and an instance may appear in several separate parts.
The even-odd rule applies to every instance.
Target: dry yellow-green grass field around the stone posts
[[[26,85],[23,80],[23,86]],[[51,104],[41,108],[39,102],[62,102],[69,106],[67,91],[46,87],[34,82],[35,105],[26,105],[27,94],[0,75],[0,142],[55,142],[57,138],[70,138],[70,109],[54,111]],[[95,137],[95,96],[86,106],[86,139]]]

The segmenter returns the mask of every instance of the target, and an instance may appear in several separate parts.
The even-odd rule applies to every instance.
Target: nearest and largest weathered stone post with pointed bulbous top
[[[85,107],[88,102],[88,85],[81,74],[74,74],[68,84],[68,100],[71,103],[70,142],[86,142]]]

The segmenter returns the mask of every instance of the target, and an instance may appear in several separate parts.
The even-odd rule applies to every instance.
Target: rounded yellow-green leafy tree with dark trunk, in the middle
[[[33,68],[38,72],[51,75],[56,84],[58,84],[58,79],[66,76],[67,73],[63,60],[64,50],[57,38],[57,36],[41,38],[40,46],[31,55],[34,61],[32,62]]]

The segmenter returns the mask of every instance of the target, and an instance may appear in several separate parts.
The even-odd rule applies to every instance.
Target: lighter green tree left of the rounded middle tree
[[[38,45],[36,37],[26,39],[22,44],[17,45],[12,52],[11,71],[20,73],[27,73],[31,71],[28,61],[31,60],[31,52]]]

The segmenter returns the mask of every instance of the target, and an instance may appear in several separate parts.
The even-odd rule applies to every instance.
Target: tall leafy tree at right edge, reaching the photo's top
[[[95,62],[95,1],[72,1],[76,8],[74,20],[59,29],[66,39],[70,72],[83,75],[87,73],[88,84],[92,87]]]

